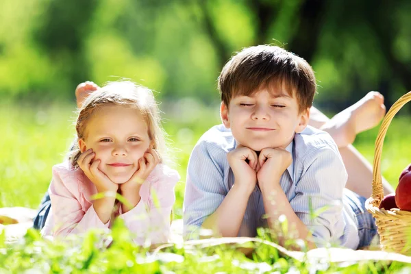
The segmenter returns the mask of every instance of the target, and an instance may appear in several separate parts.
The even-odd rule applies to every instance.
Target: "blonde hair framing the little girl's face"
[[[101,108],[107,105],[123,105],[128,108],[140,110],[147,123],[149,138],[152,142],[153,149],[157,151],[160,162],[166,157],[166,140],[164,129],[161,125],[160,111],[155,102],[153,92],[144,86],[129,81],[108,82],[105,86],[92,92],[79,108],[75,130],[77,139],[71,152],[69,161],[77,168],[77,160],[82,152],[79,149],[78,140],[86,136],[86,127],[90,118]]]

